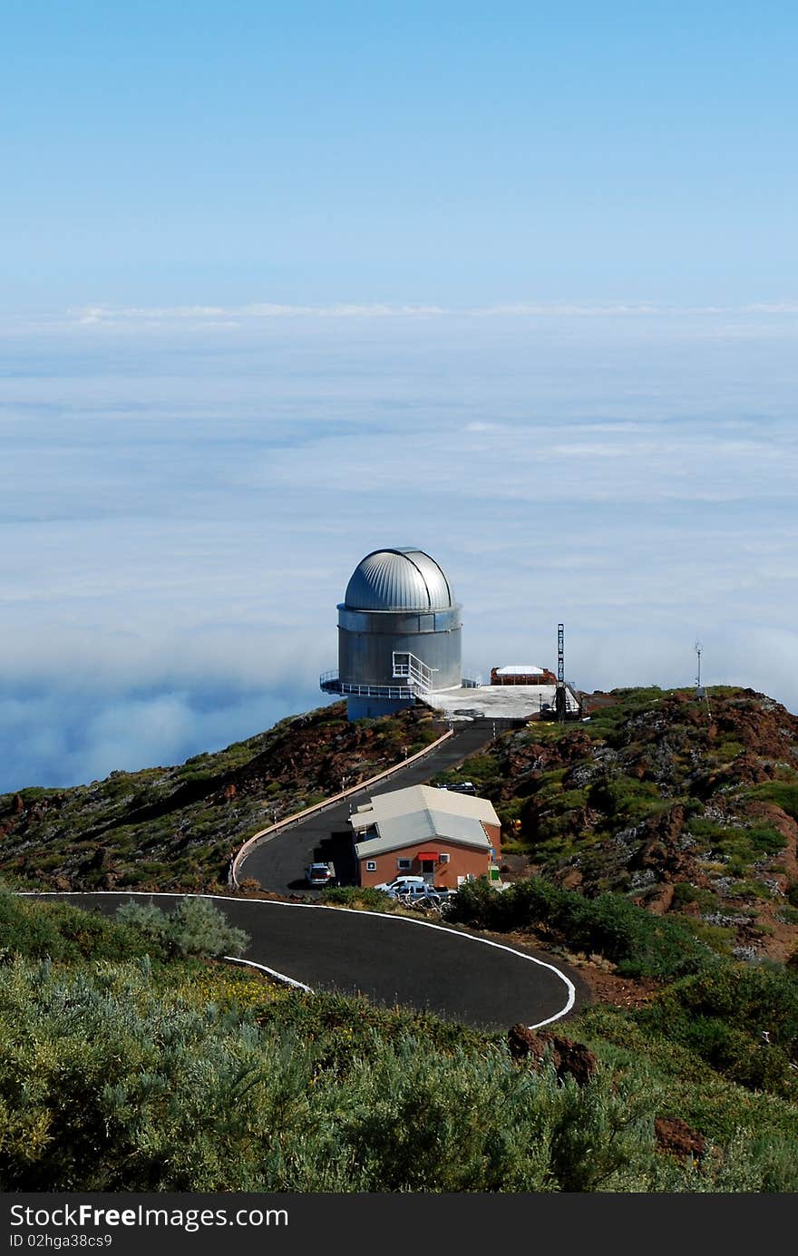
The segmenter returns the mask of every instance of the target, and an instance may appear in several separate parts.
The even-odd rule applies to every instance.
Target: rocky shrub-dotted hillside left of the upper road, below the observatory
[[[442,732],[424,710],[348,723],[337,702],[177,767],[5,794],[3,874],[20,889],[219,888],[231,850],[274,816],[337,794],[343,779],[367,780]]]

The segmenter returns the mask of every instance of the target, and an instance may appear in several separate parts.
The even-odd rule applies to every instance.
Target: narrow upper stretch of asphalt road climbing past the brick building
[[[504,725],[496,722],[496,732]],[[386,794],[408,785],[424,785],[437,772],[446,771],[462,762],[475,751],[493,740],[493,721],[475,721],[456,728],[452,737],[424,759],[408,764],[380,785],[349,794],[342,803],[327,808],[317,815],[308,816],[290,825],[276,836],[269,838],[246,857],[239,868],[239,880],[251,878],[263,889],[278,894],[308,892],[304,879],[305,867],[315,859],[324,863],[332,860],[339,884],[354,883],[354,857],[352,853],[352,830],[348,824],[349,813],[358,804],[377,794]]]

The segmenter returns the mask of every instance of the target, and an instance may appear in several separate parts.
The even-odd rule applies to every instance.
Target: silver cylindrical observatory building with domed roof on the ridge
[[[338,605],[338,669],[325,693],[347,696],[349,720],[393,715],[462,683],[460,607],[435,559],[416,546],[372,550]]]

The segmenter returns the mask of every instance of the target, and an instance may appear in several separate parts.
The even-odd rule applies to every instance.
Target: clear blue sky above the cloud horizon
[[[794,295],[793,5],[4,16],[9,309]]]

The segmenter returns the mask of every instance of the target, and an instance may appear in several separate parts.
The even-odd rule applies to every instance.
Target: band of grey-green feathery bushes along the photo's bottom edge
[[[0,970],[0,1188],[795,1188],[794,1161],[767,1135],[757,1156],[739,1140],[700,1172],[657,1154],[662,1094],[645,1066],[579,1086],[499,1042],[440,1050],[406,1025],[391,1041],[374,1025],[347,1053],[343,1029],[329,1068],[333,1032],[319,1041],[232,1005],[163,1004],[145,963],[57,975],[18,960]]]

